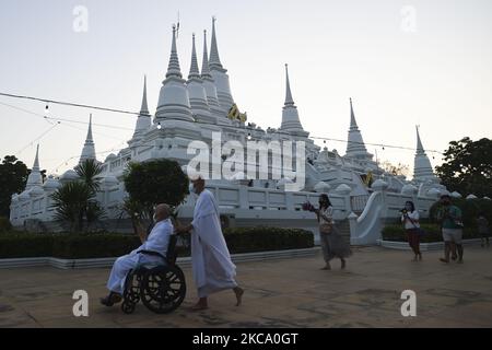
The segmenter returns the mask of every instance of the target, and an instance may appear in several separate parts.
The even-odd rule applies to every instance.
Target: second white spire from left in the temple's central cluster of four
[[[189,104],[196,118],[206,122],[215,122],[216,119],[210,114],[210,107],[207,102],[207,92],[198,70],[195,34],[192,35],[191,67],[186,88],[188,89]]]

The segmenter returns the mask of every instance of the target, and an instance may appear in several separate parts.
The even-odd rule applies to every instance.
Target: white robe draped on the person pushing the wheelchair
[[[207,189],[198,197],[191,225],[191,262],[198,296],[237,287],[236,266],[222,234],[219,207]]]

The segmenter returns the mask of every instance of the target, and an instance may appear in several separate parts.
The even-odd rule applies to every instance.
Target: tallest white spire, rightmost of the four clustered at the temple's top
[[[227,70],[222,66],[219,58],[219,49],[216,45],[215,34],[215,18],[212,19],[212,44],[209,58],[210,73],[216,86],[216,95],[219,98],[219,105],[222,108],[223,115],[226,116],[234,100],[231,93],[231,84],[229,82]]]

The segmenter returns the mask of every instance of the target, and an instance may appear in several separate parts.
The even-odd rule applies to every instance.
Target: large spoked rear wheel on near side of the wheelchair
[[[150,269],[140,283],[142,303],[157,314],[176,310],[183,303],[185,295],[185,275],[177,266]]]

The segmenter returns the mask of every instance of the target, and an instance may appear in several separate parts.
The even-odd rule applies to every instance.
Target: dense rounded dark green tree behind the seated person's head
[[[124,179],[129,195],[124,209],[132,218],[150,219],[155,205],[176,207],[188,195],[188,177],[176,161],[129,163]]]

